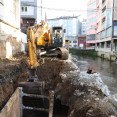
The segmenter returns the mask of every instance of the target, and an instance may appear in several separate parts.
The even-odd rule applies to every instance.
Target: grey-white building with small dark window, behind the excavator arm
[[[37,0],[21,0],[21,31],[26,33],[28,26],[37,23]]]

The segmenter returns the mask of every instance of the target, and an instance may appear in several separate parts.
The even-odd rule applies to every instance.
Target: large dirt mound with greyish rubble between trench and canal
[[[55,90],[55,100],[68,107],[64,117],[116,117],[117,106],[99,74],[80,72],[75,62],[45,58],[38,67],[46,90]]]

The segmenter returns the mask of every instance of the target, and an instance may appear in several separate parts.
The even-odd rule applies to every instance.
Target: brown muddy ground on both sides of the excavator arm
[[[63,61],[49,57],[39,60],[38,77],[46,83],[45,93],[55,91],[54,113],[62,113],[59,117],[116,117],[117,106],[112,103],[108,89],[98,74],[80,72],[75,62],[74,59]],[[27,80],[29,65],[28,58],[22,54],[13,60],[0,60],[0,64],[2,108],[17,83]]]

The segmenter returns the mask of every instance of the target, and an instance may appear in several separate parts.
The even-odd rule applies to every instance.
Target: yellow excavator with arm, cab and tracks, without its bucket
[[[37,56],[41,56],[42,50],[46,52],[52,52],[53,50],[58,58],[62,60],[68,59],[68,50],[64,47],[64,33],[65,29],[60,26],[50,29],[47,22],[41,22],[33,27],[28,27],[27,43],[30,59],[30,81],[37,79]]]

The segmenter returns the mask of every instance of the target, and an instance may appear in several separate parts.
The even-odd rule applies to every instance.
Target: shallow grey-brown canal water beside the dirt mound
[[[81,71],[87,71],[88,67],[94,68],[108,86],[110,93],[117,93],[117,63],[99,57],[81,55],[73,55],[73,57],[78,60],[77,65]]]

